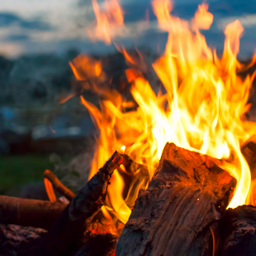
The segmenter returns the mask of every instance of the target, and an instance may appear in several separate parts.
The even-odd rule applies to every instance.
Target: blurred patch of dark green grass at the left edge
[[[10,189],[17,191],[29,183],[43,181],[44,171],[53,168],[54,164],[45,155],[0,156],[0,194],[3,195]]]

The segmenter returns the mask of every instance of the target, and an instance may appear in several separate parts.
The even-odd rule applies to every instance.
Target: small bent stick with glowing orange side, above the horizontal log
[[[61,195],[63,195],[65,198],[67,198],[69,201],[71,201],[73,199],[73,197],[75,196],[75,194],[70,189],[68,189],[61,183],[61,181],[56,177],[56,175],[53,172],[46,170],[44,172],[44,184],[46,185],[45,188],[47,190],[47,194],[48,194],[50,201],[52,201],[52,200],[56,201],[56,197],[54,199],[54,197],[52,196],[52,195],[54,195],[54,192],[51,189],[52,186],[49,186],[49,184],[47,184],[48,182],[52,183],[54,188],[58,192],[60,192]],[[47,188],[49,188],[49,189],[47,189]],[[49,191],[52,191],[52,192],[49,192]],[[51,198],[52,198],[52,200],[51,200]]]

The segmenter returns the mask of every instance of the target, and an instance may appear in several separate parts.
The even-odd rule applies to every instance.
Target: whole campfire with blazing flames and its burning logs
[[[157,85],[147,79],[143,53],[131,55],[113,41],[127,29],[118,0],[105,7],[93,0],[96,24],[87,32],[123,54],[130,96],[113,89],[101,60],[79,55],[70,62],[82,89],[99,97],[97,107],[81,96],[100,131],[89,181],[75,195],[47,171],[51,203],[44,203],[41,219],[31,214],[41,211],[40,202],[3,197],[0,220],[12,205],[17,213],[8,223],[49,229],[32,255],[252,255],[256,123],[245,113],[256,73],[241,73],[256,58],[237,60],[241,23],[224,29],[219,57],[200,32],[213,21],[206,3],[187,21],[170,14],[169,0],[154,0],[159,26],[169,34],[152,64]],[[17,204],[30,205],[23,217]]]

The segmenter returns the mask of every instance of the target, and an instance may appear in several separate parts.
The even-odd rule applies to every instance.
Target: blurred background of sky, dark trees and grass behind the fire
[[[239,19],[244,27],[239,59],[249,60],[256,48],[256,1],[207,2],[214,15],[210,30],[202,31],[208,45],[221,53],[224,27]],[[104,7],[102,0],[98,3]],[[128,29],[116,35],[116,43],[130,52],[137,47],[151,64],[167,39],[157,27],[151,2],[120,3]],[[175,0],[172,14],[189,20],[200,3]],[[116,47],[90,41],[86,28],[94,20],[91,0],[0,2],[0,194],[46,198],[45,169],[55,171],[75,190],[86,182],[97,131],[79,96],[59,104],[76,83],[69,61],[81,52],[102,58],[116,89],[128,83],[125,61]],[[97,104],[89,91],[85,98]],[[253,105],[251,119],[254,109]]]

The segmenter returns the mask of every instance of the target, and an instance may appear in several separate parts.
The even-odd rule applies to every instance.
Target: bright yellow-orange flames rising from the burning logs
[[[103,26],[104,30],[96,0],[93,0],[93,6],[97,26]],[[153,64],[165,93],[161,90],[154,93],[138,65],[143,62],[142,57],[140,61],[134,60],[123,48],[130,65],[126,76],[131,83],[134,101],[126,101],[116,90],[97,80],[92,81],[92,87],[100,96],[100,110],[81,97],[82,104],[100,130],[90,177],[114,150],[127,154],[140,166],[129,174],[124,166],[115,170],[102,212],[109,221],[128,221],[131,207],[139,191],[146,189],[153,177],[167,142],[214,157],[221,168],[236,178],[237,187],[229,207],[251,203],[250,168],[240,148],[256,131],[256,125],[244,119],[244,113],[250,108],[247,100],[255,73],[245,79],[237,75],[245,68],[236,58],[243,32],[239,20],[224,30],[224,52],[219,59],[200,33],[200,29],[209,29],[213,20],[206,3],[198,6],[191,21],[172,16],[169,0],[154,0],[152,7],[160,28],[169,32],[166,50]],[[105,41],[109,43],[109,31],[104,31]],[[88,58],[79,58],[72,64],[77,79],[82,80],[83,74],[92,68],[91,74],[105,77],[100,62],[90,60],[90,64],[84,66],[82,63]],[[123,178],[124,174],[130,175],[129,182]]]

